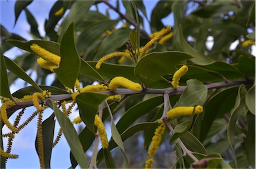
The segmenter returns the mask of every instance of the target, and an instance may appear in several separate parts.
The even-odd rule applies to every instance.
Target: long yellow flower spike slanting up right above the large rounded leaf
[[[157,34],[153,39],[151,39],[142,49],[139,60],[144,57],[144,55],[147,53],[147,50],[149,50],[149,47],[151,47],[156,41],[158,41],[161,37],[166,35],[169,31],[171,31],[171,27],[168,25],[163,31],[161,31],[159,34]]]

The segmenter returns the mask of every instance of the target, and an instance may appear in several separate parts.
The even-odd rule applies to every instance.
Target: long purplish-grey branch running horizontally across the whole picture
[[[237,85],[253,85],[253,81],[247,81],[247,80],[243,80],[243,81],[224,81],[224,82],[218,82],[218,83],[211,83],[208,85],[205,85],[206,88],[208,89],[213,89],[213,88],[225,88],[228,86],[237,86]],[[121,95],[133,95],[133,94],[179,94],[182,93],[185,88],[187,86],[179,86],[179,88],[145,88],[143,90],[139,90],[139,91],[134,91],[134,90],[130,90],[127,88],[117,88],[116,90],[107,90],[104,92],[98,92],[101,94],[109,94],[109,95],[116,95],[116,94],[121,94]],[[51,98],[51,100],[53,101],[63,101],[63,100],[71,100],[71,95],[70,94],[57,94],[57,95],[52,95],[49,96],[49,98]],[[39,102],[40,104],[43,104],[44,102]],[[32,101],[25,101],[25,102],[16,102],[15,106],[11,106],[7,108],[7,114],[10,116],[11,113],[15,112],[16,110],[19,110],[21,108],[26,108],[29,106],[33,106],[33,102]]]

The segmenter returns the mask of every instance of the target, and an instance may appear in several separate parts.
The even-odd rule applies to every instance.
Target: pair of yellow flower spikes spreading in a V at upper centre
[[[165,29],[162,29],[161,31],[154,33],[151,36],[151,40],[141,49],[139,49],[139,60],[142,59],[146,54],[147,51],[149,50],[149,48],[155,43],[157,42],[159,39],[162,39],[159,41],[159,43],[163,44],[165,43],[165,41],[167,41],[168,39],[170,39],[171,37],[173,37],[173,33],[170,33],[169,35],[166,35],[169,31],[171,31],[171,27],[168,25]],[[166,35],[166,36],[165,36]],[[108,59],[111,59],[113,57],[121,57],[121,60],[119,61],[119,63],[121,63],[123,61],[123,59],[129,59],[130,61],[132,61],[133,63],[136,63],[137,60],[133,57],[133,53],[131,53],[131,51],[133,51],[133,49],[130,50],[125,50],[125,52],[113,52],[113,53],[109,53],[108,55],[105,55],[104,57],[102,57],[101,59],[99,59],[99,61],[97,62],[95,68],[96,69],[100,69],[101,65],[107,61]],[[137,53],[137,51],[135,50],[135,53]]]

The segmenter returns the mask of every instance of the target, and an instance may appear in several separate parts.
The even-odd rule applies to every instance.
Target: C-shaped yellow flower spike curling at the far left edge
[[[19,132],[18,128],[16,128],[15,126],[11,125],[11,122],[9,122],[8,117],[7,117],[7,111],[6,108],[7,106],[15,106],[15,102],[8,100],[3,102],[2,106],[1,106],[1,118],[3,120],[3,122],[5,123],[5,125],[12,131],[12,132]]]

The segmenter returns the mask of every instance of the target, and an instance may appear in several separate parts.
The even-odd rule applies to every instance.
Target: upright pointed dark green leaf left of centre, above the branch
[[[80,69],[80,57],[77,54],[74,40],[74,23],[69,25],[61,39],[61,63],[54,69],[59,81],[63,85],[73,88]]]

